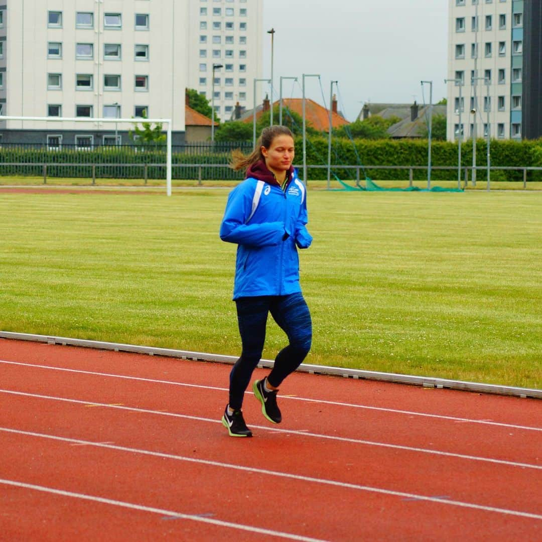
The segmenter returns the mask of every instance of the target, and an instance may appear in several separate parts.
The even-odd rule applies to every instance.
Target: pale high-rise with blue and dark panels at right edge
[[[464,138],[542,135],[542,121],[531,126],[537,111],[540,119],[541,4],[449,0],[449,140],[460,133],[460,111]]]

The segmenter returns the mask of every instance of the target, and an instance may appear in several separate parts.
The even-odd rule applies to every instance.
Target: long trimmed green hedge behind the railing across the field
[[[311,137],[307,139],[307,164],[325,165],[327,163],[327,138]],[[297,155],[295,162],[302,162],[302,139],[296,138]],[[363,165],[360,170],[362,179],[365,175],[372,179],[408,179],[408,166],[427,166],[427,140],[356,140],[334,139],[332,145],[331,162],[333,172],[341,179],[356,178],[356,170],[341,169],[340,165]],[[247,149],[247,146],[243,146]],[[486,141],[476,141],[476,157],[479,166],[479,176],[485,176],[483,166],[486,164]],[[357,155],[356,155],[357,153]],[[203,179],[240,179],[242,173],[234,172],[228,167],[230,150],[210,152],[209,147],[197,147],[193,152],[173,152],[172,163],[175,164],[202,164]],[[359,157],[359,158],[358,158]],[[457,166],[457,144],[448,141],[434,141],[431,146],[433,166]],[[21,163],[36,165],[24,166]],[[47,149],[31,149],[28,147],[7,147],[0,149],[0,175],[3,176],[42,176],[43,167],[47,164],[48,177],[84,177],[93,175],[92,164],[105,164],[96,166],[97,178],[143,178],[145,164],[163,164],[147,167],[148,178],[165,178],[165,149],[151,147],[145,150],[133,146],[127,147],[96,147],[93,150],[82,151],[62,149],[58,151]],[[16,163],[17,165],[2,165]],[[60,164],[77,165],[60,165]],[[119,166],[119,164],[131,164]],[[205,164],[221,164],[223,167],[205,167]],[[542,139],[534,141],[491,141],[492,166],[542,167]],[[405,166],[392,170],[375,170],[371,165]],[[472,141],[462,145],[462,165],[472,165]],[[309,179],[323,179],[327,175],[326,169],[309,169]],[[198,177],[196,167],[173,167],[174,179],[195,179]],[[517,171],[492,171],[492,180],[522,180],[523,173]],[[427,169],[414,170],[414,179],[427,178]],[[433,178],[437,180],[455,180],[457,170],[435,170]],[[542,180],[542,171],[527,173],[527,180]]]

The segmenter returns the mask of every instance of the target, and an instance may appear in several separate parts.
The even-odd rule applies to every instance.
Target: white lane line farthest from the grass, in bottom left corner
[[[281,531],[273,531],[270,529],[262,529],[260,527],[253,527],[251,525],[243,525],[240,523],[232,523],[230,521],[221,521],[219,519],[205,518],[201,515],[183,514],[180,512],[173,512],[171,510],[164,510],[162,508],[154,508],[152,506],[143,506],[133,504],[132,502],[117,501],[114,499],[106,499],[104,497],[97,497],[94,495],[87,495],[85,493],[74,493],[73,491],[64,491],[63,489],[54,489],[52,487],[37,486],[33,483],[19,482],[15,480],[0,479],[0,483],[7,486],[21,487],[24,489],[34,489],[35,491],[41,491],[44,493],[53,493],[55,495],[62,495],[64,497],[70,497],[72,499],[82,499],[86,501],[100,502],[101,504],[119,506],[121,508],[129,508],[131,510],[138,510],[141,512],[151,512],[153,514],[160,514],[168,518],[176,519],[188,519],[191,521],[199,521],[201,523],[208,523],[211,525],[217,525],[218,527],[230,527],[237,529],[238,531],[249,531],[258,534],[268,534],[273,537],[287,538],[289,540],[301,540],[303,542],[324,542],[318,538],[304,537],[299,534],[285,533]]]

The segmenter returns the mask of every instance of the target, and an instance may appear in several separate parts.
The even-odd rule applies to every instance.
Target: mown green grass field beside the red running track
[[[0,193],[0,329],[238,354],[226,197]],[[307,363],[542,388],[542,193],[308,204]]]

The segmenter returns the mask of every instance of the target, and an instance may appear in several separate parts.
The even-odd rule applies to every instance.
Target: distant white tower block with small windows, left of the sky
[[[254,103],[254,79],[263,72],[262,13],[263,0],[190,0],[188,86],[214,101],[221,120],[237,102]],[[261,101],[261,86],[256,94]]]

